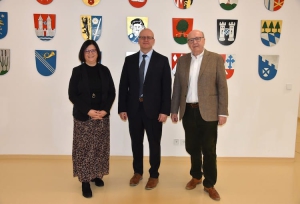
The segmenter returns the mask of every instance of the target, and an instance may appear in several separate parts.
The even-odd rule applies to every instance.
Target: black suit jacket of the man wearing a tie
[[[143,87],[143,106],[147,117],[170,115],[171,68],[168,58],[153,50]],[[134,117],[139,108],[139,52],[127,56],[119,85],[118,112]]]

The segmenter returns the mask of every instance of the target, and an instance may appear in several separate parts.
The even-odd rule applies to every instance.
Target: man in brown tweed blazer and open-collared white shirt
[[[171,119],[178,121],[179,110],[186,151],[191,156],[192,179],[186,189],[194,189],[202,182],[203,175],[204,190],[212,199],[220,200],[214,188],[217,181],[217,129],[218,124],[223,125],[227,120],[228,90],[222,57],[204,49],[204,44],[203,32],[193,30],[188,34],[191,53],[183,55],[177,62]]]

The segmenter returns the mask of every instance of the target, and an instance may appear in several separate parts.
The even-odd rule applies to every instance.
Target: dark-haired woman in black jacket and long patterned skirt
[[[115,86],[107,67],[99,63],[100,49],[93,40],[79,51],[81,65],[75,67],[69,83],[73,103],[73,176],[82,182],[82,195],[92,197],[90,182],[104,186],[109,172],[109,112],[115,100]]]

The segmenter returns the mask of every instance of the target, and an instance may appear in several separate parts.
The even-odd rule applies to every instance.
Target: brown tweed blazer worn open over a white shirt
[[[178,59],[173,87],[171,113],[179,112],[181,120],[186,106],[189,86],[191,53]],[[221,55],[204,50],[198,78],[198,102],[205,121],[217,121],[228,115],[228,89],[224,61]]]

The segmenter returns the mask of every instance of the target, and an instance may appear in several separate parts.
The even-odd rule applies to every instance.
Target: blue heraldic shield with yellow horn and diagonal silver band
[[[56,50],[35,50],[35,62],[41,75],[52,75],[56,69]]]

